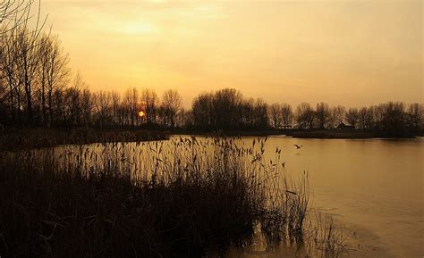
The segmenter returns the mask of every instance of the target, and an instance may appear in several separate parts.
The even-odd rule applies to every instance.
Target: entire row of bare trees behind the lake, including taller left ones
[[[387,136],[423,129],[423,104],[388,102],[369,107],[267,104],[225,88],[195,97],[191,110],[182,97],[152,89],[92,92],[81,75],[72,76],[69,57],[57,36],[21,25],[0,38],[0,130],[2,127],[92,127],[213,130],[361,129]]]

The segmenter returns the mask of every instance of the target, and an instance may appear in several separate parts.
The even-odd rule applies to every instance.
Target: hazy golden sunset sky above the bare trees
[[[233,87],[268,103],[423,102],[422,1],[42,0],[93,90]],[[49,28],[47,26],[47,28]]]

